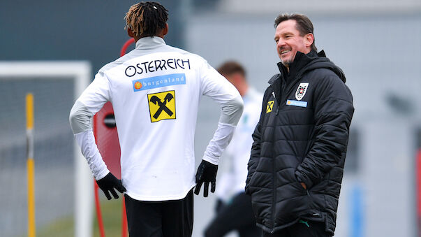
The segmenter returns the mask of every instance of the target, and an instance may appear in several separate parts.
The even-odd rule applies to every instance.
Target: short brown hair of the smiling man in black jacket
[[[309,33],[313,34],[314,36],[313,23],[311,23],[311,20],[306,15],[297,14],[297,13],[293,13],[293,14],[284,13],[284,14],[278,15],[278,17],[276,17],[275,19],[274,27],[275,28],[278,27],[278,24],[286,20],[295,20],[295,22],[297,22],[296,27],[297,27],[297,30],[300,32],[300,36],[305,36],[306,34],[309,34]],[[313,39],[313,43],[311,44],[311,50],[314,50],[317,52],[315,42],[316,42],[316,38]]]

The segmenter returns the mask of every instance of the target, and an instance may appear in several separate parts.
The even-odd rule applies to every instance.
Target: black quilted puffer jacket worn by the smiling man
[[[297,52],[269,80],[246,180],[256,222],[273,233],[300,219],[334,234],[353,98],[324,52]],[[306,184],[304,189],[300,182]]]

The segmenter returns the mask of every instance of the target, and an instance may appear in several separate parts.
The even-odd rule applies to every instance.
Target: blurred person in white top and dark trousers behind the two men
[[[251,134],[259,120],[263,94],[249,86],[246,71],[239,63],[225,62],[218,71],[238,89],[244,101],[244,110],[226,150],[230,166],[219,179],[216,189],[216,217],[205,230],[205,236],[224,236],[236,230],[240,237],[256,237],[259,236],[260,229],[256,226],[251,210],[251,197],[244,193],[244,187],[253,143]]]

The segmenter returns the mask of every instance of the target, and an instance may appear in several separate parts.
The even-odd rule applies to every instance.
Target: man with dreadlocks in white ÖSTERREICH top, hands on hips
[[[215,190],[216,171],[242,114],[237,89],[205,59],[165,44],[168,10],[140,2],[126,13],[135,49],[103,66],[71,110],[75,139],[105,196],[125,192],[130,236],[191,236],[193,187]],[[201,95],[221,106],[195,174],[195,123]],[[121,147],[121,180],[96,148],[91,117],[111,101]]]

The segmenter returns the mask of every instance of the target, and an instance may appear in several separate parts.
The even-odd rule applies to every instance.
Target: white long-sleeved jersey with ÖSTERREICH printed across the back
[[[194,132],[201,95],[221,106],[203,159],[218,164],[242,114],[237,89],[205,59],[140,38],[135,49],[103,66],[71,110],[73,134],[96,180],[109,173],[89,120],[110,101],[121,148],[121,180],[141,201],[183,199],[195,186]]]

